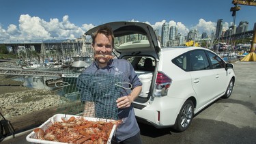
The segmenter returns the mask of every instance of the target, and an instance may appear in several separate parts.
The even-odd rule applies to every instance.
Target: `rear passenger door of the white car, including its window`
[[[210,63],[205,51],[190,51],[190,75],[192,86],[197,94],[197,109],[208,104],[213,99],[215,73],[210,69]]]

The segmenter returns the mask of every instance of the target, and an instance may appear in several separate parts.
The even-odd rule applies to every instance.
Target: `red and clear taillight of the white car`
[[[171,78],[163,72],[158,72],[156,76],[156,83],[154,85],[154,97],[167,96],[169,87],[171,86]]]

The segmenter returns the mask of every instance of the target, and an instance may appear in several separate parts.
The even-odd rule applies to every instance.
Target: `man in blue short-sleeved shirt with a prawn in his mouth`
[[[120,91],[119,98],[115,100],[116,106],[118,108],[118,118],[122,119],[122,124],[117,127],[115,136],[111,143],[141,143],[141,136],[139,126],[135,119],[134,109],[132,107],[132,102],[141,93],[141,81],[139,80],[137,74],[134,72],[132,65],[125,59],[112,59],[112,51],[114,46],[114,35],[111,27],[102,26],[99,27],[98,31],[92,35],[92,47],[94,48],[94,62],[83,72],[83,74],[112,74],[113,76],[122,77],[122,83],[124,87],[129,87],[127,83],[130,83],[131,89],[122,89]],[[78,87],[81,93],[84,93],[85,89],[81,87],[83,83],[83,74],[79,76]],[[109,77],[111,78],[111,77]],[[83,85],[83,84],[82,84]],[[96,90],[97,92],[97,90]],[[83,95],[82,97],[87,97],[88,95]],[[91,98],[82,98],[85,100],[85,112],[88,109],[94,109],[94,114],[89,116],[96,116],[95,101]],[[91,102],[86,102],[86,101]],[[103,109],[101,109],[103,111]],[[87,115],[86,115],[87,116]]]

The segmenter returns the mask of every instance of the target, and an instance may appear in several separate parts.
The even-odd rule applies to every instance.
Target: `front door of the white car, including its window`
[[[229,77],[225,70],[225,61],[210,51],[207,51],[206,53],[210,59],[212,69],[214,70],[214,98],[216,98],[225,93],[229,83]]]

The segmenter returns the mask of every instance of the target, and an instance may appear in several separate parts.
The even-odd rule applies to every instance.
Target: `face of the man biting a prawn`
[[[95,39],[94,53],[95,55],[111,55],[112,53],[112,39],[111,35],[99,33]],[[99,63],[107,63],[109,60],[106,57],[97,57]]]

